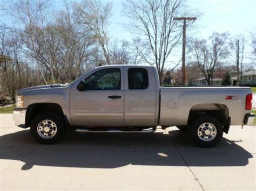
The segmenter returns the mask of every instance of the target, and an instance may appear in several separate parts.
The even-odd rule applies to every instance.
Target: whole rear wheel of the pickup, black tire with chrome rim
[[[209,126],[210,125],[210,126]],[[214,129],[214,127],[215,129]],[[200,129],[199,129],[200,128]],[[206,134],[203,133],[203,135],[200,135],[200,132],[205,132],[204,128],[213,128],[215,133],[213,131],[211,131],[211,133],[213,133],[214,136],[208,136]],[[200,131],[200,132],[198,132]],[[208,132],[207,132],[208,133]],[[194,142],[200,146],[200,147],[213,147],[215,145],[217,145],[221,138],[223,137],[223,126],[221,125],[220,121],[218,119],[216,119],[215,117],[200,117],[196,120],[193,121],[193,123],[191,124],[191,136],[192,139],[194,140]],[[207,139],[206,139],[207,138]],[[202,140],[204,139],[204,140]]]

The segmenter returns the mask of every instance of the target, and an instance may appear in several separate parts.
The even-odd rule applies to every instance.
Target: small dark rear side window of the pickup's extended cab
[[[129,89],[146,89],[149,87],[149,75],[145,68],[128,69]]]

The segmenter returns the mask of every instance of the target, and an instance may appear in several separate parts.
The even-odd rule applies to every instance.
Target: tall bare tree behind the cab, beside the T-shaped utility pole
[[[127,0],[124,13],[130,18],[128,29],[136,31],[147,39],[153,55],[147,63],[156,65],[160,79],[163,76],[167,58],[180,43],[181,23],[174,17],[188,15],[183,0]]]

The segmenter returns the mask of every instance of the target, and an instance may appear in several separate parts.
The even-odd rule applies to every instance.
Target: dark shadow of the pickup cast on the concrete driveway
[[[126,165],[154,166],[246,166],[253,158],[236,144],[242,140],[223,138],[213,148],[195,146],[188,133],[178,130],[155,133],[85,133],[70,132],[61,143],[40,145],[29,130],[0,137],[0,159],[33,165],[117,168]]]

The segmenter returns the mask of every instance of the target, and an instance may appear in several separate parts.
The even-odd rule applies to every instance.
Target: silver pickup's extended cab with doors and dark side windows
[[[70,92],[72,125],[157,126],[159,81],[154,69],[113,65],[80,77]]]

